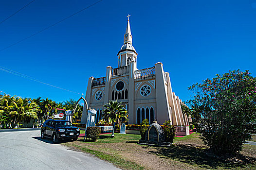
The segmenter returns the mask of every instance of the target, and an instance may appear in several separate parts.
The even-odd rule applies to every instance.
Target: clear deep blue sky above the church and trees
[[[0,21],[31,0],[0,1]],[[0,49],[97,0],[35,0],[0,24]],[[130,14],[139,69],[162,62],[183,101],[187,87],[229,69],[256,76],[256,0],[102,0],[87,10],[0,51],[0,66],[86,93],[88,78],[116,68]],[[57,102],[80,95],[0,70],[0,91]],[[1,92],[1,94],[3,94]]]

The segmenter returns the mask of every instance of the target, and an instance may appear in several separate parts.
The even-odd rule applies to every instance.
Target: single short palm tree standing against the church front
[[[122,105],[122,102],[110,101],[109,103],[105,104],[104,107],[106,108],[103,110],[104,119],[112,124],[113,131],[111,137],[114,137],[115,122],[117,121],[120,123],[122,119],[128,121],[128,113]]]

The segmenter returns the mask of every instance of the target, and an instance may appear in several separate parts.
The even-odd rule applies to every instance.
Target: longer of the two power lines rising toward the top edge
[[[38,31],[37,33],[32,34],[32,35],[30,35],[30,36],[28,36],[28,37],[26,37],[26,38],[23,38],[23,39],[17,41],[16,43],[14,43],[14,44],[12,44],[12,45],[10,45],[10,46],[7,46],[7,47],[1,49],[0,51],[4,51],[5,49],[8,49],[8,48],[10,48],[10,47],[12,47],[12,46],[14,46],[14,45],[20,43],[20,42],[22,42],[22,41],[24,41],[24,40],[26,40],[26,39],[32,37],[32,36],[35,36],[36,34],[39,34],[39,33],[43,32],[43,31],[45,31],[45,30],[48,30],[49,28],[51,28],[51,27],[57,25],[58,23],[63,22],[64,20],[66,20],[66,19],[68,19],[68,18],[70,18],[70,17],[73,17],[74,15],[76,15],[76,14],[78,14],[78,13],[80,13],[80,12],[82,12],[82,11],[88,9],[88,8],[90,8],[91,6],[93,6],[93,5],[97,4],[97,3],[99,3],[100,1],[102,1],[102,0],[98,0],[97,2],[95,2],[95,3],[91,4],[91,5],[89,5],[88,7],[85,7],[85,8],[83,8],[83,9],[81,9],[80,11],[78,11],[78,12],[76,12],[76,13],[74,13],[74,14],[68,16],[68,17],[65,17],[64,19],[61,19],[60,21],[56,22],[55,24],[50,25],[49,27],[46,27],[46,28],[42,29],[41,31]]]

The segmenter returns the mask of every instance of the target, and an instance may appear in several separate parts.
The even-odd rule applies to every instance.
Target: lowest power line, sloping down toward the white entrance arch
[[[55,88],[58,88],[58,89],[66,90],[66,91],[69,91],[69,92],[72,92],[72,93],[76,93],[76,94],[80,94],[80,95],[81,95],[81,93],[77,93],[77,92],[72,91],[72,90],[67,90],[67,89],[65,89],[65,88],[61,88],[61,87],[58,87],[58,86],[55,86],[55,85],[50,85],[50,84],[48,84],[48,83],[41,82],[41,81],[39,81],[38,79],[35,79],[35,78],[33,78],[33,77],[30,77],[30,76],[28,76],[28,75],[26,75],[26,74],[22,74],[22,73],[19,73],[19,72],[17,72],[17,71],[14,71],[14,70],[11,70],[11,69],[8,69],[8,68],[4,68],[4,67],[2,67],[2,66],[0,66],[0,70],[1,70],[1,71],[4,71],[4,72],[7,72],[7,73],[10,73],[10,74],[13,74],[13,75],[16,75],[16,76],[19,76],[19,77],[23,77],[23,78],[26,78],[26,79],[29,79],[29,80],[32,80],[32,81],[41,83],[41,84],[44,84],[44,85],[49,85],[49,86],[52,86],[52,87],[55,87]]]

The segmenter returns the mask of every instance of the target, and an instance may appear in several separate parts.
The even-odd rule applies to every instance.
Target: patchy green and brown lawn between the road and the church
[[[81,132],[83,133],[83,132]],[[64,143],[68,147],[91,153],[123,170],[256,170],[256,146],[244,145],[240,156],[226,160],[213,156],[198,134],[176,137],[171,147],[139,145],[140,135],[101,135],[97,142],[83,138]],[[242,163],[241,163],[242,162]]]

